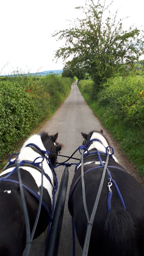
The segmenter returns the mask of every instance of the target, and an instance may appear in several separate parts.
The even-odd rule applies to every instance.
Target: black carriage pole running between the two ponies
[[[54,216],[50,227],[50,234],[48,241],[46,241],[46,248],[44,256],[57,256],[59,249],[59,240],[61,235],[61,226],[63,223],[63,212],[65,208],[65,198],[68,186],[68,166],[63,171],[57,202],[55,204]]]

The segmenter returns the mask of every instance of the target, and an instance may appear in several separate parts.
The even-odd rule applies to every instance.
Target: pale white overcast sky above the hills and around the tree
[[[82,17],[75,7],[84,4],[85,0],[0,0],[0,75],[63,69],[62,58],[54,59],[62,42],[52,34]],[[118,18],[129,16],[124,28],[144,29],[144,0],[114,0],[111,13],[116,10]]]

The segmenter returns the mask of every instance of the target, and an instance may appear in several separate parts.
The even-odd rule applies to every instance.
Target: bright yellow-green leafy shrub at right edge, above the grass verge
[[[141,126],[144,124],[143,89],[144,78],[111,78],[98,93],[98,104],[110,108],[116,120],[125,120]]]

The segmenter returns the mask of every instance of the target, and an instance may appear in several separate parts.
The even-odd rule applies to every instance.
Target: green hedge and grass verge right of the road
[[[120,148],[144,176],[144,78],[116,78],[93,98],[93,82],[78,84],[85,100]]]

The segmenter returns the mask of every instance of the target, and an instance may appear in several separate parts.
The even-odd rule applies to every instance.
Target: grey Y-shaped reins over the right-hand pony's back
[[[101,182],[100,182],[100,187],[98,189],[98,194],[96,196],[96,201],[94,203],[92,214],[89,218],[89,213],[88,213],[88,210],[87,210],[87,203],[86,203],[86,198],[85,198],[85,182],[84,182],[84,173],[83,173],[83,152],[81,154],[81,182],[82,182],[82,192],[83,192],[83,205],[84,205],[84,208],[85,208],[85,213],[87,215],[87,221],[88,221],[87,232],[86,232],[86,236],[85,236],[85,242],[84,242],[84,246],[83,246],[82,256],[87,256],[87,254],[88,254],[90,236],[91,236],[91,231],[92,231],[92,225],[93,225],[94,216],[96,214],[96,210],[97,210],[97,207],[98,207],[98,202],[99,202],[100,194],[101,194],[102,187],[103,187],[103,182],[104,182],[104,178],[105,178],[105,172],[106,172],[106,169],[107,169],[108,161],[109,161],[109,151],[107,150],[107,159],[106,159],[106,162],[105,162],[105,166],[103,168],[103,174],[102,174],[102,179],[101,179]]]

